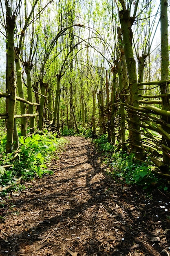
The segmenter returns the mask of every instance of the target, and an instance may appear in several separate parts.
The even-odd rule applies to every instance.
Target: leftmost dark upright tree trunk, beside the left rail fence
[[[11,16],[11,8],[7,7],[7,73],[6,81],[9,97],[8,121],[7,121],[7,144],[6,152],[10,153],[13,147],[14,115],[16,105],[16,82],[14,71],[14,29],[15,16]]]

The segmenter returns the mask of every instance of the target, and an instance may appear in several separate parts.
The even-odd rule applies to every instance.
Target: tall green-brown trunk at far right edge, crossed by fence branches
[[[161,0],[161,80],[169,78],[169,51],[168,51],[168,1]],[[161,94],[169,93],[168,84],[161,85]],[[170,110],[169,97],[162,97],[162,109]],[[162,116],[161,119],[166,124],[170,124],[170,118]],[[169,133],[167,126],[162,126],[163,130]],[[164,145],[170,148],[170,141],[165,137],[162,138]],[[163,163],[170,165],[170,155],[163,152]]]

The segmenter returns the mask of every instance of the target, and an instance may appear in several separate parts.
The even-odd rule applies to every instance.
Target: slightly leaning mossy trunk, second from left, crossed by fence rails
[[[22,85],[22,72],[21,72],[21,61],[18,56],[17,49],[15,49],[15,66],[16,66],[16,74],[17,74],[17,88],[18,88],[18,96],[24,99],[24,89]],[[20,111],[21,115],[26,114],[26,105],[24,102],[20,101]],[[26,117],[21,117],[21,135],[26,137]]]

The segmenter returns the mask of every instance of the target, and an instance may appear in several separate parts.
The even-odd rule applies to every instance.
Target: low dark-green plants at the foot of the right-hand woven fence
[[[134,154],[127,154],[116,151],[115,147],[108,141],[107,135],[102,135],[93,142],[97,150],[103,155],[104,162],[108,165],[106,173],[117,182],[126,184],[141,185],[143,189],[148,189],[152,184],[157,184],[162,188],[161,180],[153,172],[153,167],[148,162],[139,162],[134,158]],[[165,187],[166,190],[167,187]]]

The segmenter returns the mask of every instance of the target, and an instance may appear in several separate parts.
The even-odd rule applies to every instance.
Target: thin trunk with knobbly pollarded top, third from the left
[[[27,90],[28,90],[28,100],[30,102],[33,102],[32,98],[32,82],[31,82],[31,69],[33,68],[33,65],[29,65],[29,63],[24,62],[25,67],[25,73],[26,73],[26,79],[27,79]],[[29,114],[33,114],[33,106],[29,105]],[[30,133],[33,133],[35,130],[34,125],[34,117],[30,117]]]

